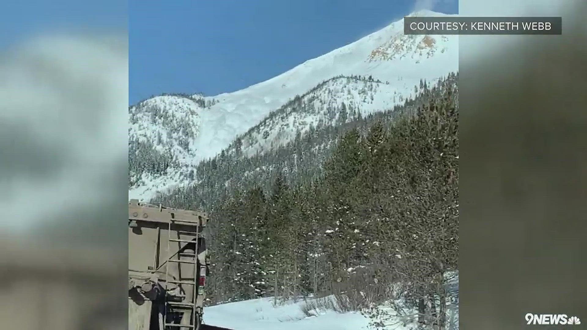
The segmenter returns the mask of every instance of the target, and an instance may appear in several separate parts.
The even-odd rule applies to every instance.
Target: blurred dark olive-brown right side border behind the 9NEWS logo
[[[459,14],[563,22],[459,37],[461,329],[587,319],[587,2],[461,0]]]

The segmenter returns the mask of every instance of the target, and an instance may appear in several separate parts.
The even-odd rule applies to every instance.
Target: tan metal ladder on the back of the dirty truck
[[[188,224],[195,227],[195,233],[191,231],[180,231],[177,230],[177,238],[171,237],[171,227],[172,225],[177,224]],[[171,218],[168,223],[167,228],[168,233],[168,240],[167,240],[167,251],[171,252],[171,243],[178,243],[180,244],[180,248],[178,248],[177,252],[171,254],[168,259],[161,264],[161,266],[165,265],[165,275],[166,275],[166,284],[165,284],[165,302],[164,302],[164,314],[163,314],[163,329],[194,329],[197,330],[201,323],[200,313],[198,309],[200,307],[197,306],[196,302],[198,299],[198,294],[201,293],[201,290],[198,290],[198,285],[200,284],[198,278],[198,244],[200,238],[200,222],[199,221],[191,221],[191,220],[180,220]],[[194,240],[182,240],[180,238],[180,233],[188,234],[188,235],[195,235]],[[183,245],[182,245],[183,244]],[[194,252],[188,253],[185,252],[185,247],[188,245],[194,245]],[[191,257],[190,260],[184,260],[181,257]],[[182,278],[183,275],[181,274],[181,264],[192,264],[194,267],[194,275],[193,278]],[[169,266],[170,265],[177,265],[178,268],[178,278],[172,278],[169,274]],[[161,267],[160,266],[160,267]],[[201,273],[204,271],[204,273]],[[200,270],[200,275],[205,276],[205,270]],[[170,284],[176,284],[177,287],[183,289],[184,292],[187,290],[191,290],[192,292],[192,299],[191,301],[182,301],[182,302],[174,302],[169,300],[168,291],[170,289]],[[177,297],[177,296],[176,296]],[[184,297],[187,297],[184,295]],[[188,320],[188,324],[176,324],[173,323],[173,314],[169,315],[168,313],[172,312],[183,312],[186,309],[191,310],[191,317]],[[182,319],[181,323],[185,321]],[[162,330],[163,330],[162,329]]]

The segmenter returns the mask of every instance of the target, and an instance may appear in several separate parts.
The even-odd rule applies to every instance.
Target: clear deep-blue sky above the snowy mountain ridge
[[[262,82],[425,6],[451,0],[130,0],[129,102]],[[431,8],[427,8],[431,9]]]

